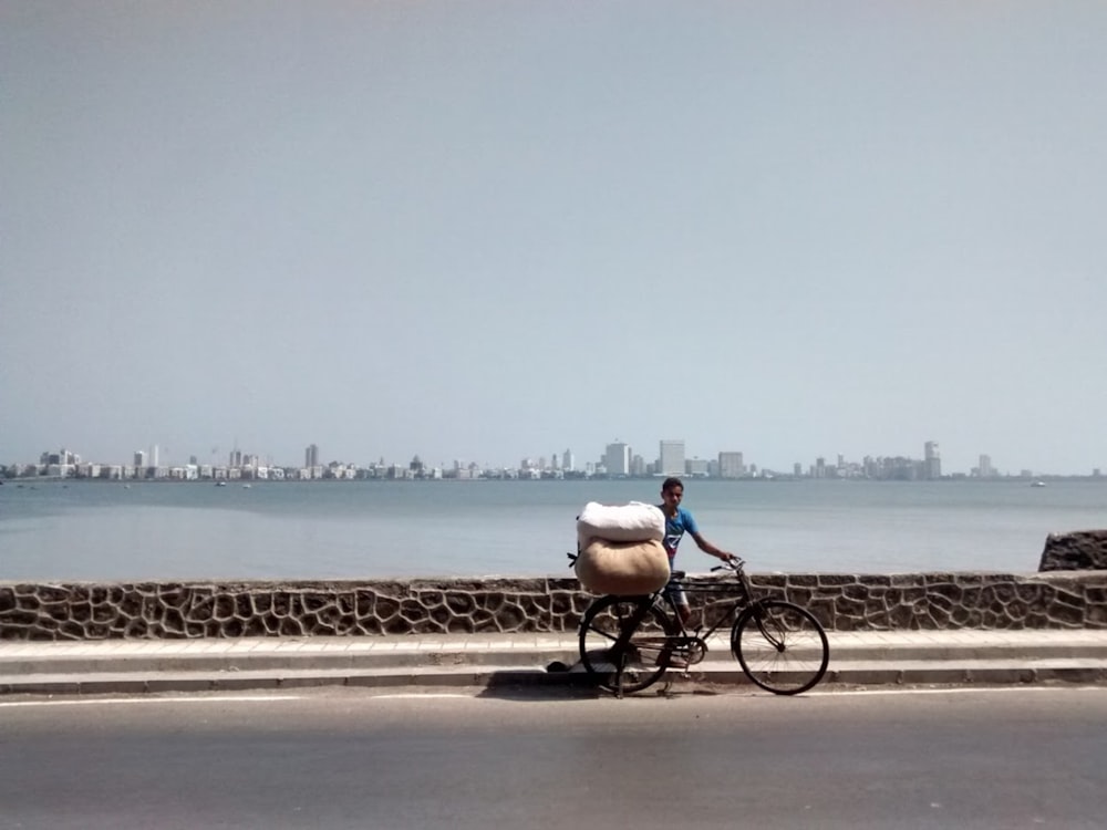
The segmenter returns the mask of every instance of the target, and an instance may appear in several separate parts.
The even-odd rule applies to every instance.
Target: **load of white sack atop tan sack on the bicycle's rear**
[[[654,505],[589,501],[577,517],[577,579],[592,593],[659,591],[669,581],[664,538],[665,517]]]

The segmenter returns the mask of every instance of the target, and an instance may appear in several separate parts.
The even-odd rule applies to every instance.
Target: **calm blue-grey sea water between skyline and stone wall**
[[[588,501],[655,479],[0,487],[0,580],[570,575]],[[703,535],[752,572],[1030,572],[1046,536],[1107,527],[1107,479],[689,480]],[[677,567],[714,560],[686,538]]]

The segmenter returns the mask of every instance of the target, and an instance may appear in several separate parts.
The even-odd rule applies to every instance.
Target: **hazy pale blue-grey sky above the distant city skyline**
[[[0,463],[1107,470],[1107,3],[0,0]]]

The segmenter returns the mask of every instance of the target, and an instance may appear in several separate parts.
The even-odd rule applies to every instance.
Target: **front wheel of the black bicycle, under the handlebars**
[[[827,634],[805,608],[765,600],[742,612],[731,651],[751,681],[777,695],[798,695],[823,679],[830,662]]]

